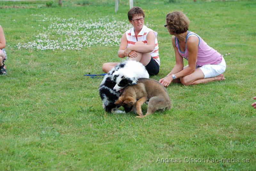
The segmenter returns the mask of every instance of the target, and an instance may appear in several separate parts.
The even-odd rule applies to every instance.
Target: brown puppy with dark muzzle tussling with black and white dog
[[[148,101],[148,111],[143,116],[141,105]],[[157,110],[170,109],[172,104],[167,90],[156,80],[140,78],[135,85],[124,88],[122,96],[115,102],[125,108],[136,106],[137,118],[143,118]]]

